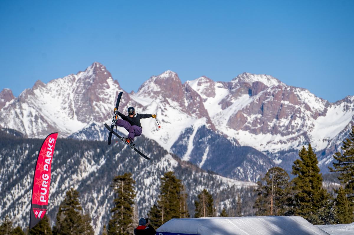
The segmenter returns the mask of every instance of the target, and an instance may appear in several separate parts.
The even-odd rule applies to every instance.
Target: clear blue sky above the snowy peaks
[[[1,1],[0,89],[18,96],[101,62],[130,92],[269,74],[331,102],[354,95],[354,1]]]

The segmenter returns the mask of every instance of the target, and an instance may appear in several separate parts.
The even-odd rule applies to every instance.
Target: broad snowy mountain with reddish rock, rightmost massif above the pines
[[[187,84],[201,94],[219,132],[279,163],[280,152],[295,153],[311,143],[318,153],[324,152],[319,160],[326,159],[326,168],[345,137],[343,132],[353,125],[354,96],[330,103],[271,76],[249,73],[229,83],[201,77]],[[292,155],[291,162],[297,153]]]

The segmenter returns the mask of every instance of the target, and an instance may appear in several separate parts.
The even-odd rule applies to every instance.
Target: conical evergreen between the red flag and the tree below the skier
[[[59,205],[57,223],[53,227],[54,235],[85,234],[93,235],[91,219],[82,214],[79,202],[79,192],[70,188],[65,195],[64,201]]]

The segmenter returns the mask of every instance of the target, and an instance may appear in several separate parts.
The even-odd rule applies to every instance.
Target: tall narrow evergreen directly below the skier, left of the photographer
[[[109,235],[129,234],[133,230],[134,184],[131,173],[124,173],[113,179],[115,198],[111,210],[113,215],[108,223]]]

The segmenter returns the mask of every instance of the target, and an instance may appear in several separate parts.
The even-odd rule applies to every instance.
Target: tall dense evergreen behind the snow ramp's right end
[[[292,180],[294,214],[312,224],[335,223],[333,203],[322,188],[322,174],[311,145],[307,150],[303,146],[299,157],[292,166],[292,174],[296,175]]]

